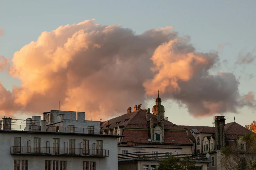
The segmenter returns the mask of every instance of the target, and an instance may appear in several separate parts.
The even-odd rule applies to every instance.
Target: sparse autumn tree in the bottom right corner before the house
[[[246,134],[221,149],[225,170],[256,170],[256,135]]]

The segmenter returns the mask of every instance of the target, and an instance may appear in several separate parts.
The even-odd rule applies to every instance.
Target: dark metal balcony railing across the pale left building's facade
[[[66,156],[95,156],[107,157],[109,150],[106,149],[83,149],[83,148],[52,148],[52,147],[11,147],[11,154],[26,155],[66,155]]]

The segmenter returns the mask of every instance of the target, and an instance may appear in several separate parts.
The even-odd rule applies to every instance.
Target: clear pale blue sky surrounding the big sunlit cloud
[[[179,34],[191,36],[197,51],[218,50],[219,44],[225,45],[219,52],[221,62],[228,64],[213,70],[233,72],[240,79],[240,93],[255,92],[256,78],[248,75],[255,73],[255,62],[237,65],[238,54],[246,54],[256,47],[256,1],[7,1],[0,2],[0,55],[12,58],[31,41],[36,41],[43,31],[51,31],[60,25],[78,23],[95,18],[99,24],[121,24],[137,34],[148,29],[173,26]],[[19,85],[17,79],[0,73],[5,88]],[[154,103],[154,101],[153,101]],[[176,124],[212,125],[213,118],[194,119],[185,108],[175,103],[163,103],[166,115]],[[241,125],[255,120],[252,110],[243,108],[240,114],[227,114],[227,122]],[[187,120],[183,118],[186,117]],[[198,121],[199,120],[199,121]]]

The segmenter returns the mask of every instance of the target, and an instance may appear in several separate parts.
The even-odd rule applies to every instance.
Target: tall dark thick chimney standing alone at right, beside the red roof
[[[225,134],[224,134],[224,126],[225,126],[225,117],[224,116],[215,116],[214,119],[215,124],[215,144],[216,150],[220,150],[221,147],[225,146]]]

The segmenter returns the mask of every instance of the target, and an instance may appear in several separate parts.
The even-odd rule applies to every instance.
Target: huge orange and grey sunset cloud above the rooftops
[[[58,109],[60,101],[61,110],[92,110],[94,119],[106,118],[143,103],[157,89],[193,116],[237,112],[255,103],[239,94],[233,74],[209,74],[219,61],[216,52],[196,52],[189,37],[179,37],[172,27],[136,35],[120,25],[83,21],[43,32],[12,61],[9,73],[21,87],[9,92],[1,85],[1,113]]]

